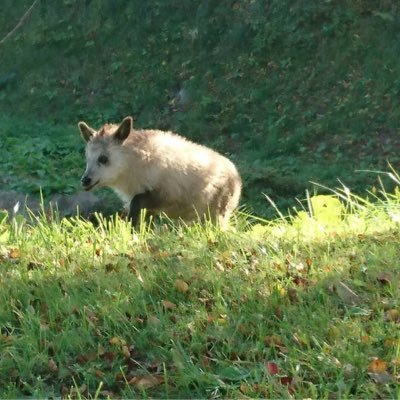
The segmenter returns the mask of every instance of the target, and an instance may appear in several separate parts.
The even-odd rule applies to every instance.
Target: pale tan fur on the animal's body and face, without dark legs
[[[132,130],[121,143],[113,137],[118,128],[104,125],[88,140],[85,175],[99,180],[96,187],[111,187],[126,207],[135,195],[155,192],[161,200],[153,212],[188,222],[209,215],[226,225],[241,192],[240,176],[230,160],[160,130]],[[99,166],[96,160],[104,153],[109,165]]]

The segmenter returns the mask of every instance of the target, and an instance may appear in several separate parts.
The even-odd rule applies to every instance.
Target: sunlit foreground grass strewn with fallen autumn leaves
[[[384,195],[228,232],[2,215],[0,396],[399,397],[400,196]]]

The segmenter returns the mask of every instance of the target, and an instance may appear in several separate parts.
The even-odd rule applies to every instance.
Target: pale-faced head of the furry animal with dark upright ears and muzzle
[[[124,171],[122,144],[132,131],[132,118],[126,117],[120,125],[106,124],[96,131],[85,122],[79,130],[86,142],[86,170],[81,178],[84,190],[104,186],[113,187]]]

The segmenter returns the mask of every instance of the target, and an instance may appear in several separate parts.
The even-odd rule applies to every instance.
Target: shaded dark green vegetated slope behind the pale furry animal
[[[0,37],[31,4],[3,0]],[[260,215],[363,191],[399,166],[399,54],[393,0],[40,0],[0,45],[0,185],[77,190],[76,122],[129,114],[227,154]]]

